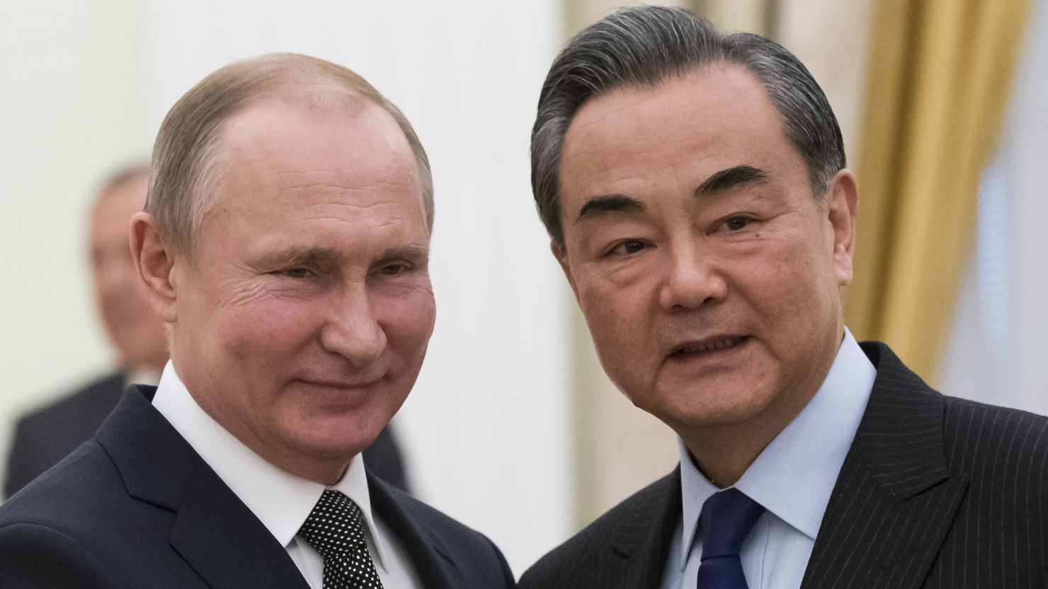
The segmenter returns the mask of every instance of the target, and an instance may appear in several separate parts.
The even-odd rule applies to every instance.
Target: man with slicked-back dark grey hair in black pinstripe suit
[[[1048,420],[943,397],[844,326],[857,187],[792,54],[621,10],[554,61],[531,155],[602,364],[681,458],[521,587],[1048,584]]]

